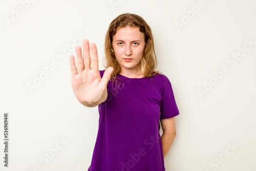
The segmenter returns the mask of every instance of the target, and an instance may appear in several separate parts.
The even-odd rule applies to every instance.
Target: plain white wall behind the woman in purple
[[[103,70],[105,33],[124,12],[142,16],[151,26],[157,70],[172,83],[180,111],[166,170],[256,170],[256,2],[205,0],[197,14],[190,7],[199,4],[195,0],[113,0],[116,6],[110,2],[37,0],[23,11],[20,1],[1,0],[1,142],[5,112],[10,138],[8,168],[3,166],[4,146],[0,145],[1,170],[88,169],[98,109],[76,100],[69,55],[63,49],[75,55],[76,37],[88,38],[97,45]],[[12,9],[17,12],[17,8],[19,16],[8,24],[6,18],[11,19]],[[177,29],[175,22],[183,22],[183,27]],[[245,45],[245,39],[254,45]],[[227,61],[232,53],[242,53],[244,46],[250,50],[235,65]],[[30,92],[27,84],[34,84],[35,76],[44,72],[42,67],[54,61],[57,67]],[[222,66],[228,72],[214,78],[212,72],[221,71]],[[214,85],[200,96],[198,88],[204,89],[205,81]],[[61,146],[58,139],[66,143]],[[48,162],[47,153],[53,155]]]

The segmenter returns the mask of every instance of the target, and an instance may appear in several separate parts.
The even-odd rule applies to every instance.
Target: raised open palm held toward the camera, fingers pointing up
[[[83,57],[81,47],[76,47],[76,63],[74,56],[70,56],[71,84],[77,100],[85,106],[94,107],[108,97],[106,86],[114,68],[107,68],[101,78],[96,45],[92,43],[89,46],[89,40],[84,39],[82,47]]]

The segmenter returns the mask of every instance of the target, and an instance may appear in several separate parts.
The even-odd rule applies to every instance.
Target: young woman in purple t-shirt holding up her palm
[[[74,94],[84,106],[99,105],[99,129],[88,170],[165,170],[179,110],[170,81],[155,71],[154,40],[145,20],[124,13],[112,21],[105,37],[105,70],[99,71],[96,45],[89,46],[87,39],[83,57],[80,46],[76,56],[76,65],[70,56]]]

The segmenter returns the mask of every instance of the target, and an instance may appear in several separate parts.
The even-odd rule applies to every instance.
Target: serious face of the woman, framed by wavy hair
[[[129,72],[141,71],[140,60],[145,48],[145,41],[144,33],[141,33],[138,27],[118,29],[113,35],[112,46],[121,67],[120,73],[125,72],[124,70],[129,70]]]

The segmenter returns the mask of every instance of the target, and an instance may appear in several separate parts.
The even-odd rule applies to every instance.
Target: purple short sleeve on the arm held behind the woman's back
[[[172,84],[165,75],[163,75],[162,80],[162,101],[160,106],[160,112],[160,119],[172,118],[179,115],[179,110],[175,101]]]

